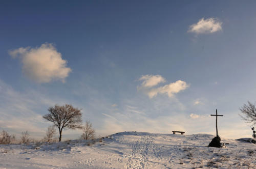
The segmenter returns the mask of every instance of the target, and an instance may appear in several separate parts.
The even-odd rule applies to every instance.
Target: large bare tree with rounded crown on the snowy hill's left
[[[59,142],[63,128],[81,129],[82,114],[81,109],[74,108],[70,104],[63,106],[55,105],[48,108],[49,114],[43,116],[44,119],[53,122],[59,129]]]

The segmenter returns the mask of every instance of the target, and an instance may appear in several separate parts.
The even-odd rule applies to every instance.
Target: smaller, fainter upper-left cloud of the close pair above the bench
[[[165,79],[160,75],[142,75],[139,80],[143,80],[141,86],[145,88],[151,88],[158,83],[165,82]]]

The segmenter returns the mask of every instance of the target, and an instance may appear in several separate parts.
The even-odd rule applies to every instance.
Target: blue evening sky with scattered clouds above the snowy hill
[[[1,1],[0,130],[41,138],[55,104],[98,136],[251,137],[255,1]],[[82,131],[65,130],[63,138]]]

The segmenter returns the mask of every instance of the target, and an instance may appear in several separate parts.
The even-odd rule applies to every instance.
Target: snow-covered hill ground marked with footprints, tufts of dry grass
[[[256,168],[256,145],[222,138],[226,148],[209,148],[213,137],[122,132],[90,145],[0,145],[0,168]]]

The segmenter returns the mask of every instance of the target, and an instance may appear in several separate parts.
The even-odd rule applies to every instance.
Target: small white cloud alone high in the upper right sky
[[[216,18],[200,19],[197,23],[189,26],[187,32],[196,34],[209,34],[222,30],[222,22]]]

